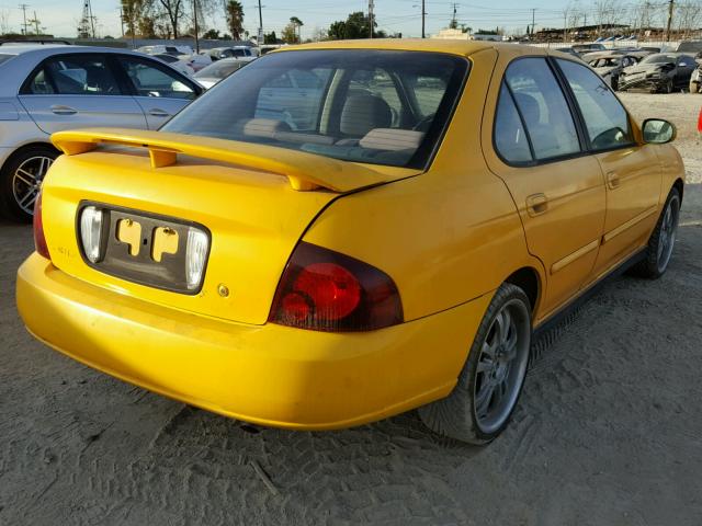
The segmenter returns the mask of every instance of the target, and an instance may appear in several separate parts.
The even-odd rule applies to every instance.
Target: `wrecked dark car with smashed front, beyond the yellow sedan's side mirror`
[[[619,89],[648,89],[652,93],[672,93],[688,89],[697,62],[691,55],[658,53],[649,55],[635,66],[624,68],[619,78]]]

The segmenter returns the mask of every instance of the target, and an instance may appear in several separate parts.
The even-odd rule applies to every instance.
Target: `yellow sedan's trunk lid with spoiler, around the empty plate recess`
[[[53,140],[66,155],[44,182],[42,205],[58,268],[135,298],[254,324],[268,319],[290,254],[325,206],[342,193],[418,173],[174,134],[83,130]],[[115,218],[143,224],[146,252],[139,261],[131,259],[132,245],[116,266],[87,260],[78,217],[86,205],[112,214],[111,243],[122,242],[115,240]],[[210,254],[202,288],[183,294],[180,284],[165,283],[177,272],[147,260],[158,228],[182,238],[190,225],[207,231]],[[177,243],[181,256],[183,244]],[[138,278],[122,272],[138,264]]]

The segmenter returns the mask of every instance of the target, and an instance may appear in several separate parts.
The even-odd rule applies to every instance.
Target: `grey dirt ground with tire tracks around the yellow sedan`
[[[0,224],[0,524],[702,523],[702,95],[624,94],[680,128],[678,244],[542,343],[508,431],[475,448],[410,412],[335,433],[254,428],[33,341],[14,308],[31,229]]]

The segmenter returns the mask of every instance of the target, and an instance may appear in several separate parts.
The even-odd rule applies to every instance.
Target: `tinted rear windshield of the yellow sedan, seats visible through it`
[[[424,168],[467,68],[466,59],[438,53],[275,53],[219,82],[162,129]]]

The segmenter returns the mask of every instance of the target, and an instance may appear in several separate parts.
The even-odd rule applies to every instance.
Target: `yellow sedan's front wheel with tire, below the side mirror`
[[[680,192],[673,187],[668,194],[645,249],[645,259],[634,265],[632,274],[648,279],[658,279],[668,270],[676,243],[678,220],[680,219]]]

